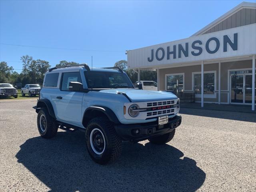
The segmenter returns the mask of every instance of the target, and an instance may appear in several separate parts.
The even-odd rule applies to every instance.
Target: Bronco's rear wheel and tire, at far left
[[[40,136],[53,138],[58,131],[58,124],[52,118],[46,108],[41,108],[37,115],[37,127]]]

